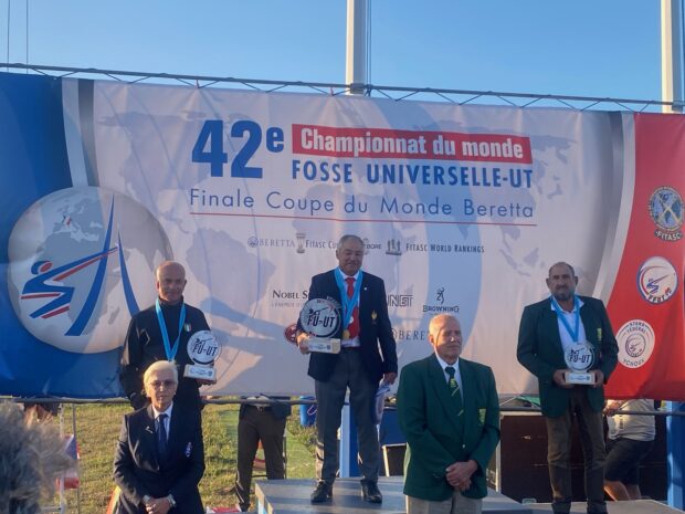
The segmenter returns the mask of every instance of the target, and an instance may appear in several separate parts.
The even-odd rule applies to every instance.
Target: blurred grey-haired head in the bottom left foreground
[[[19,406],[0,403],[0,513],[40,513],[41,497],[74,465],[53,427],[27,424]]]

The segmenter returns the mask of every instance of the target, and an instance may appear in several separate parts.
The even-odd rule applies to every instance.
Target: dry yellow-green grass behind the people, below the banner
[[[202,411],[204,462],[207,469],[200,482],[204,505],[232,506],[231,492],[235,482],[238,448],[238,406],[210,405]],[[107,508],[114,487],[112,461],[118,438],[122,416],[128,406],[75,406],[80,460],[80,491],[66,491],[67,513],[76,514],[77,494],[82,514],[102,514]],[[298,408],[293,408],[286,428],[287,478],[314,478],[314,429],[299,426]],[[72,406],[64,406],[64,430],[72,432]],[[253,501],[254,508],[254,501]]]

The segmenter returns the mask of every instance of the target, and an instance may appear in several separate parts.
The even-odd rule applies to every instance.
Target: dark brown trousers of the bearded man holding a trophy
[[[584,460],[586,495],[588,513],[607,512],[604,502],[604,429],[602,413],[596,412],[588,402],[587,386],[575,386],[569,407],[558,418],[545,418],[547,422],[547,462],[552,491],[552,511],[568,514],[571,508],[571,427],[573,418],[580,431]]]

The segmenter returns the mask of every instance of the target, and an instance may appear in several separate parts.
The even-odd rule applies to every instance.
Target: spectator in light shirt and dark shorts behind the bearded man
[[[609,400],[604,408],[609,426],[604,491],[612,500],[641,500],[639,469],[654,445],[654,416],[622,415],[618,410],[650,412],[654,400]]]

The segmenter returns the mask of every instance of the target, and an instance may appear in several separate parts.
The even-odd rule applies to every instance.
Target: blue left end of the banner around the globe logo
[[[62,80],[0,73],[0,394],[120,396],[119,350],[73,354],[33,337],[14,315],[8,284],[9,237],[40,198],[72,187]]]

